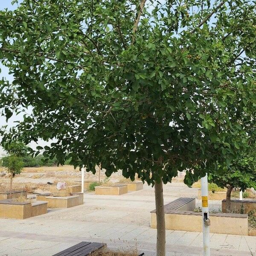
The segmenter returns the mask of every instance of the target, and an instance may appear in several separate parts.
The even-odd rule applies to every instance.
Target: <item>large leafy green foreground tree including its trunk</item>
[[[163,256],[162,184],[229,166],[255,128],[255,21],[249,0],[23,0],[0,12],[0,107],[32,113],[3,141],[155,185]]]

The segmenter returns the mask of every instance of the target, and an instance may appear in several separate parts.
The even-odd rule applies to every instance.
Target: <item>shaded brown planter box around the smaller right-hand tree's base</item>
[[[226,199],[221,202],[222,212],[226,212]],[[236,213],[248,213],[252,210],[256,210],[256,201],[250,200],[231,200],[231,210]]]

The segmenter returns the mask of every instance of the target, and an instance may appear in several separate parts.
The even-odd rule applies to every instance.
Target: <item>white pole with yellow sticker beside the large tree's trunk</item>
[[[204,256],[210,256],[210,220],[208,207],[208,177],[201,178]]]

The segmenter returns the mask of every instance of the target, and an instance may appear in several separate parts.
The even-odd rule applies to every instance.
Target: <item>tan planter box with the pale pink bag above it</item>
[[[49,194],[36,195],[37,200],[45,200],[48,202],[49,208],[70,208],[84,203],[84,195],[82,193],[73,193],[70,196],[51,196]]]

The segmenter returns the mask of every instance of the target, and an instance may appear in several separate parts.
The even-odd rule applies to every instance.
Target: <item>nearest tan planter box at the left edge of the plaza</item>
[[[0,218],[25,219],[47,213],[47,202],[36,201],[12,202],[10,199],[0,201]]]

